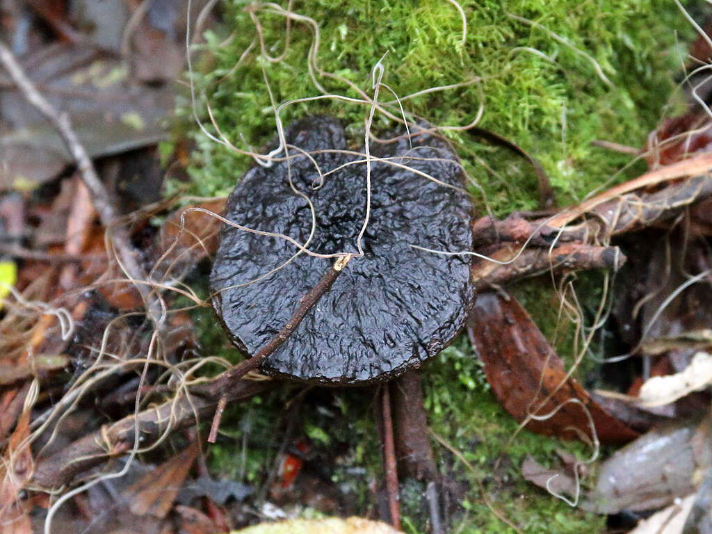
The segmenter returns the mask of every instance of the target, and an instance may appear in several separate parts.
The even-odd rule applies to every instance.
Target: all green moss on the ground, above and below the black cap
[[[224,4],[224,26],[205,34],[204,48],[209,53],[201,56],[194,83],[199,91],[206,91],[216,122],[231,142],[246,148],[244,140],[252,147],[261,147],[275,132],[262,69],[277,103],[318,95],[307,68],[313,33],[305,24],[293,22],[282,61],[267,63],[253,51],[238,70],[232,71],[256,33],[244,11],[244,1],[227,0]],[[479,126],[516,142],[536,157],[548,173],[560,204],[582,199],[629,162],[627,156],[592,147],[592,140],[640,147],[666,112],[666,105],[672,103],[674,108],[675,100],[670,97],[674,73],[681,70],[684,57],[684,46],[679,43],[691,31],[671,1],[462,0],[460,5],[468,26],[464,46],[459,12],[445,0],[295,1],[293,11],[310,16],[320,26],[320,68],[368,92],[371,70],[386,51],[383,81],[401,98],[434,86],[479,78],[480,83],[407,100],[405,107],[436,125],[464,125],[483,104]],[[548,31],[508,14],[535,21]],[[258,17],[268,53],[279,56],[286,43],[284,19],[263,12]],[[358,97],[343,83],[323,77],[318,80],[330,92]],[[179,111],[188,125],[191,112],[187,101],[179,105]],[[335,100],[298,103],[286,108],[282,118],[288,123],[295,117],[320,112],[342,119],[354,139],[362,137],[367,114],[362,105]],[[206,120],[203,100],[199,100],[199,115]],[[390,127],[377,116],[375,132]],[[229,193],[250,164],[249,158],[211,142],[194,125],[188,130],[196,143],[189,169],[191,180],[188,184],[171,182],[168,193]],[[467,132],[448,135],[466,171],[486,194],[485,198],[473,189],[480,208],[486,201],[498,216],[536,208],[536,180],[523,159]],[[641,170],[640,165],[632,167],[627,176]],[[529,283],[516,292],[543,331],[551,335],[556,326],[556,306],[550,303],[555,297],[541,297],[552,295],[550,283]],[[213,354],[222,350],[224,337],[214,320],[205,318],[198,324],[205,350]],[[560,352],[570,357],[572,346],[571,333],[563,332],[557,343]],[[506,451],[505,467],[493,476],[493,465],[517,424],[488,390],[464,337],[424,367],[424,388],[432,429],[461,451],[476,470],[471,473],[435,444],[442,473],[471,487],[456,514],[453,532],[508,531],[484,505],[475,476],[485,481],[495,506],[526,533],[601,530],[602,518],[570,508],[520,476],[519,467],[526,454],[546,463],[562,446],[559,441],[521,432]],[[226,413],[224,431],[238,438],[247,434],[250,442],[273,443],[284,395],[271,394],[232,409]],[[381,469],[372,399],[357,390],[337,392],[333,399],[329,409],[339,412],[340,417],[327,422],[323,410],[305,404],[304,429],[316,450],[327,451],[337,441],[353,444],[348,461],[365,468],[365,476],[348,478],[339,468],[333,476],[339,483],[354,484],[362,510],[367,513],[371,499],[368,481],[378,480]],[[581,445],[563,446],[581,458],[590,454]],[[248,447],[242,456],[234,445],[214,446],[211,454],[216,470],[256,484],[263,481],[273,461],[269,448]],[[412,498],[404,495],[404,528],[424,532],[425,516],[419,508],[417,486],[411,488],[410,495]]]

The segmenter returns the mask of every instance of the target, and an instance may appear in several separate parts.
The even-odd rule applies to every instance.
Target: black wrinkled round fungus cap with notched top
[[[413,133],[413,132],[412,132]],[[366,212],[366,165],[322,173],[360,155],[347,150],[337,120],[311,117],[285,132],[293,186],[315,209],[308,244],[318,253],[355,252]],[[301,151],[310,152],[310,159]],[[445,251],[472,246],[472,206],[456,155],[426,133],[387,144],[372,143],[373,157],[407,165],[450,184],[446,187],[387,162],[372,163],[371,216],[362,240],[364,257],[353,258],[330,292],[293,335],[263,363],[263,370],[307,382],[344,384],[392,377],[436,355],[465,323],[474,300],[466,255]],[[363,149],[358,149],[363,152]],[[283,155],[283,153],[282,153]],[[438,158],[434,161],[431,158]],[[286,162],[254,167],[240,180],[226,218],[251,229],[285,234],[305,243],[312,219],[307,202],[290,188]],[[333,259],[300,253],[284,239],[224,225],[211,273],[214,307],[231,340],[252,355],[287,323],[303,297],[328,272]]]

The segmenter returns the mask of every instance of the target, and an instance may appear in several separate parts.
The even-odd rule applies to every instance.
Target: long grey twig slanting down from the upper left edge
[[[45,115],[59,131],[62,140],[79,169],[82,181],[87,189],[89,189],[92,204],[99,215],[101,223],[108,231],[112,230],[112,244],[117,251],[117,256],[125,268],[127,275],[134,280],[145,280],[146,276],[144,270],[138,263],[134,248],[130,244],[128,231],[124,226],[118,224],[118,217],[109,194],[101,182],[90,157],[72,129],[69,115],[58,112],[58,110],[53,108],[48,100],[39,93],[13,53],[2,41],[0,41],[0,64],[7,70],[26,100]],[[162,308],[156,295],[144,284],[136,284],[136,288],[147,306],[153,323],[159,325],[162,322]]]

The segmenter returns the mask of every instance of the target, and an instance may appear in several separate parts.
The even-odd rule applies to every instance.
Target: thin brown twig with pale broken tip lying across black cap
[[[282,327],[279,333],[275,337],[273,337],[267,343],[267,345],[258,350],[250,359],[244,360],[235,367],[233,367],[231,370],[224,372],[221,375],[220,379],[211,382],[210,392],[212,394],[220,390],[224,391],[224,393],[220,397],[220,404],[215,412],[215,416],[213,417],[213,422],[210,427],[210,436],[208,437],[208,441],[210,443],[215,443],[218,428],[220,426],[222,412],[225,408],[225,403],[227,402],[227,383],[234,382],[244,377],[248,372],[258,367],[258,365],[260,365],[266,357],[271,355],[274,351],[276,351],[284,344],[287,338],[292,335],[297,329],[297,327],[300,325],[309,310],[311,310],[314,305],[319,302],[319,299],[323,297],[324,293],[327,293],[328,290],[331,289],[331,286],[333,285],[334,281],[341,274],[346,264],[351,261],[351,258],[353,258],[352,254],[337,258],[333,266],[331,266],[331,268],[329,269],[328,273],[323,276],[323,278],[317,283],[316,286],[311,288],[309,293],[307,293],[301,298],[299,307],[294,312],[294,315],[292,315],[290,320],[287,321],[286,325]],[[220,409],[220,407],[222,407],[222,409]]]

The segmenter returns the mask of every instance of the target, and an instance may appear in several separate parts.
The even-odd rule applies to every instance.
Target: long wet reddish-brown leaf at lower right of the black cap
[[[468,333],[493,392],[517,421],[524,421],[530,412],[546,415],[558,408],[542,421],[530,420],[527,429],[567,438],[577,432],[590,435],[582,404],[591,414],[600,441],[625,443],[637,437],[636,431],[593,401],[575,379],[566,378],[561,358],[515,298],[480,293],[468,318]]]

